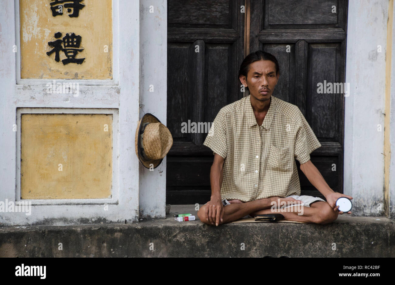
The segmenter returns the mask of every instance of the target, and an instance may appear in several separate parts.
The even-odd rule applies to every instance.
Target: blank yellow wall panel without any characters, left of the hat
[[[21,198],[111,198],[112,123],[112,114],[22,114]]]

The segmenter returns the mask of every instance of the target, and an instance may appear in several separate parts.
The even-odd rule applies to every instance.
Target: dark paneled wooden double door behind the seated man
[[[182,123],[213,122],[245,96],[240,64],[259,49],[277,57],[273,95],[301,109],[322,144],[311,160],[342,193],[344,95],[318,94],[317,83],[344,83],[347,7],[347,0],[168,1],[167,204],[209,200],[207,133],[182,132]],[[299,179],[302,195],[321,196],[300,170]]]

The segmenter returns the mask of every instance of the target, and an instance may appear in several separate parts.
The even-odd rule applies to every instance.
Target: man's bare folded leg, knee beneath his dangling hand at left
[[[223,221],[219,224],[224,224],[224,223],[229,223],[236,221],[250,213],[254,213],[260,210],[265,210],[268,209],[270,211],[270,208],[272,207],[271,202],[276,201],[280,199],[280,202],[282,201],[297,201],[293,198],[279,198],[279,197],[269,197],[265,199],[259,199],[255,201],[250,201],[250,202],[241,202],[241,203],[231,203],[230,205],[224,206],[224,216],[223,216]],[[205,215],[205,210],[206,210],[207,205],[201,206],[201,208],[198,211],[198,217],[202,223],[205,223],[207,225],[214,225],[213,223],[210,223],[210,221],[207,221],[206,215]],[[213,217],[214,219],[214,217]]]

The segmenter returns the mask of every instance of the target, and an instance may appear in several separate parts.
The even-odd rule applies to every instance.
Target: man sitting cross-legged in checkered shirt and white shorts
[[[250,95],[220,109],[203,143],[214,153],[211,200],[198,211],[203,223],[218,226],[278,212],[288,221],[325,224],[343,213],[335,206],[338,198],[352,199],[334,192],[311,162],[310,153],[321,144],[297,106],[272,96],[279,76],[270,53],[257,51],[243,60],[239,79]],[[295,159],[327,201],[299,196]],[[279,209],[283,203],[288,210]]]

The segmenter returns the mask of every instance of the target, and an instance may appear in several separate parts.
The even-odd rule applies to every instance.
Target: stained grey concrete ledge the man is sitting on
[[[395,221],[384,217],[216,227],[174,221],[175,212],[196,213],[173,205],[166,219],[132,224],[1,227],[0,257],[395,257]]]

